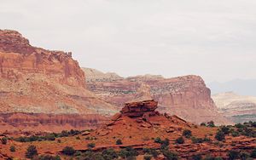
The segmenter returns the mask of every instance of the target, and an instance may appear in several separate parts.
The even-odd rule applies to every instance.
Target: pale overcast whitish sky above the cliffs
[[[255,0],[0,0],[0,28],[125,77],[256,78]]]

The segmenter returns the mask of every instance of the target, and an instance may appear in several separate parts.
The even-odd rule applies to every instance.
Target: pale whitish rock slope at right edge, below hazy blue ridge
[[[235,123],[256,121],[256,97],[238,95],[233,92],[213,94],[218,112]]]

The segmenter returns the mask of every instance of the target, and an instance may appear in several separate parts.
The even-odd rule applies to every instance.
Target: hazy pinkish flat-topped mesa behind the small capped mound
[[[230,123],[218,114],[210,89],[198,76],[164,78],[146,75],[108,82],[87,82],[86,85],[102,100],[115,106],[133,100],[154,99],[159,102],[159,111],[176,114],[189,122],[214,120],[218,124]]]

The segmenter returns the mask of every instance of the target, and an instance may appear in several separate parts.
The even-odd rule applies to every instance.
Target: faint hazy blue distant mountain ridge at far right
[[[233,91],[241,95],[256,96],[256,79],[235,79],[226,83],[212,82],[207,86],[212,90],[212,94]]]

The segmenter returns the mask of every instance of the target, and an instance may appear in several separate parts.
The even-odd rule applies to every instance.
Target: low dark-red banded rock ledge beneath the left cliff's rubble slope
[[[108,117],[79,114],[1,113],[0,133],[61,132],[70,129],[97,129]]]

